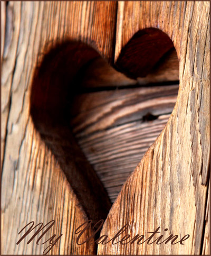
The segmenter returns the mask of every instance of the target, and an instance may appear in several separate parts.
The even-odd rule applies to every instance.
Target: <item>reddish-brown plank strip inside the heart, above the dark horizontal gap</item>
[[[139,77],[136,80],[116,71],[102,58],[93,60],[81,76],[81,86],[84,88],[111,88],[114,86],[146,85],[167,81],[179,81],[179,61],[175,49],[166,54],[160,60],[159,65],[154,67],[146,77]]]

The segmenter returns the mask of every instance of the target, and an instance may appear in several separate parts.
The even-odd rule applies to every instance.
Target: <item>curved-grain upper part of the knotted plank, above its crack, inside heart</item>
[[[77,95],[71,107],[73,132],[85,136],[111,126],[142,120],[147,113],[171,113],[177,93],[178,85],[171,85]]]

